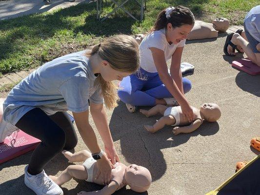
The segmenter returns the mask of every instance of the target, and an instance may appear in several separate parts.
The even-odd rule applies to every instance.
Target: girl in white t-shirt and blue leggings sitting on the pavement
[[[160,12],[151,32],[140,44],[140,71],[120,83],[118,95],[129,112],[134,112],[136,106],[179,103],[189,122],[194,120],[184,96],[190,91],[191,82],[182,78],[180,71],[182,50],[194,22],[192,12],[183,6]],[[170,74],[166,64],[169,59],[172,59]]]

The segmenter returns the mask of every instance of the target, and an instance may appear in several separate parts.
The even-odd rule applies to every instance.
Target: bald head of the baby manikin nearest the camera
[[[125,181],[135,192],[145,192],[151,185],[152,176],[148,169],[131,164],[125,169]]]

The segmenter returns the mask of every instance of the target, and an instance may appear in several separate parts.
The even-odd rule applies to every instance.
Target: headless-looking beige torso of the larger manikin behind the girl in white
[[[193,39],[206,39],[206,38],[216,38],[218,37],[218,31],[213,27],[212,23],[207,23],[204,21],[196,20],[194,27],[188,34],[188,40]]]

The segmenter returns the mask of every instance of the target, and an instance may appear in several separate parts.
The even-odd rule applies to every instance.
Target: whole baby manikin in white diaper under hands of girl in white
[[[154,125],[144,125],[148,132],[155,133],[165,125],[171,125],[175,126],[173,128],[174,135],[191,133],[200,127],[203,120],[215,122],[221,116],[220,107],[216,103],[203,103],[200,109],[192,106],[192,110],[195,117],[194,121],[188,121],[187,117],[183,115],[180,106],[167,107],[158,104],[150,110],[140,110],[140,113],[146,117],[151,117],[158,113],[163,115]]]

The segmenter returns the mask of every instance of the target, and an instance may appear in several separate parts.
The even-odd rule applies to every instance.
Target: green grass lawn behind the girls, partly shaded
[[[221,16],[231,24],[239,25],[258,0],[147,0],[142,22],[133,20],[122,10],[99,22],[96,2],[3,20],[0,21],[0,76],[40,66],[62,55],[86,49],[111,35],[145,33],[163,8],[178,4],[189,7],[198,20],[209,22]],[[140,18],[139,7],[134,1],[125,5],[130,13]],[[102,14],[112,8],[111,1],[107,0]]]

